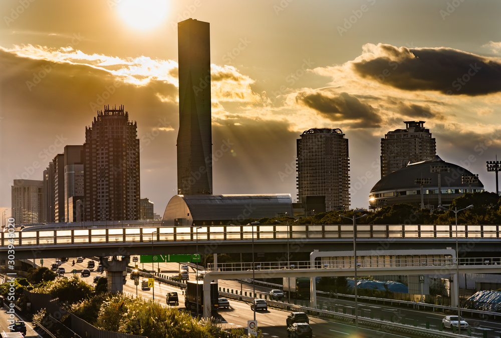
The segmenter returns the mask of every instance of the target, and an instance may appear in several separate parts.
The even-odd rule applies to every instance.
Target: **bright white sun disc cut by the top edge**
[[[131,28],[147,31],[160,26],[167,17],[167,0],[121,0],[118,14]]]

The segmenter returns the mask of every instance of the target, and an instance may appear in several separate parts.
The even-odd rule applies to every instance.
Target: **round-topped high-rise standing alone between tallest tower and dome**
[[[297,140],[297,155],[298,202],[307,215],[323,212],[321,204],[325,211],[348,209],[350,160],[348,139],[341,129],[305,131]]]

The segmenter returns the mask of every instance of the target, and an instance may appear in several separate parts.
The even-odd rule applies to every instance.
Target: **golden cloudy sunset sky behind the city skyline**
[[[501,2],[2,0],[0,209],[42,180],[105,105],[137,121],[141,197],[177,191],[177,23],[210,23],[214,194],[297,199],[296,140],[340,128],[351,205],[367,208],[380,142],[425,121],[437,155],[487,191],[501,159]],[[203,84],[199,84],[202,86]]]

